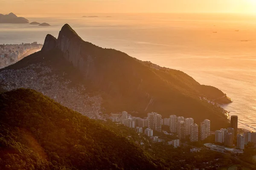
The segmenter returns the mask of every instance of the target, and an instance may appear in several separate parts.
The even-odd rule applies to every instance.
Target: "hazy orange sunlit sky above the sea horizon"
[[[0,13],[255,13],[256,0],[0,0]]]

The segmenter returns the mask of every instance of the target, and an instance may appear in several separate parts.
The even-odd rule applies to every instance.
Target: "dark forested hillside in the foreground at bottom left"
[[[0,94],[1,170],[156,170],[140,147],[30,89]]]

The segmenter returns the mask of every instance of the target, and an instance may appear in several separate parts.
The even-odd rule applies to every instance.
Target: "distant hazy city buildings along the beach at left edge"
[[[41,49],[43,45],[37,42],[22,44],[3,44],[0,45],[0,68],[6,67],[23,58],[29,50]]]

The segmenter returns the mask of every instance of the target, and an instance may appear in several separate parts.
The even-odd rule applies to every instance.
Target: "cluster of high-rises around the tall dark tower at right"
[[[238,116],[231,116],[230,127],[215,131],[215,142],[221,143],[226,147],[233,147],[236,143],[236,147],[241,150],[244,150],[244,145],[248,142],[256,142],[256,133],[237,134],[237,130]]]

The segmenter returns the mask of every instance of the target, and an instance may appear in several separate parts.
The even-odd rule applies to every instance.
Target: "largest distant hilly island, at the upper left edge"
[[[11,12],[7,15],[0,14],[0,23],[27,24],[29,20],[24,17],[17,17],[17,15]]]

